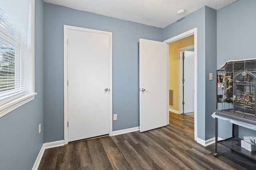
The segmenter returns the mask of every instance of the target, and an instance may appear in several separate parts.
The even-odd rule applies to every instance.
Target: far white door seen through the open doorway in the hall
[[[184,51],[183,113],[194,112],[194,51]]]

